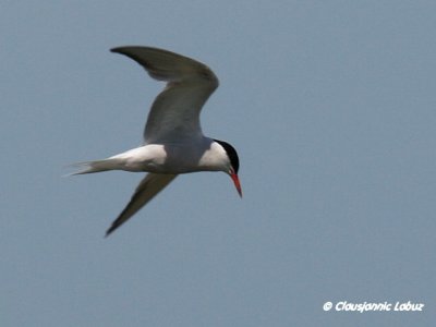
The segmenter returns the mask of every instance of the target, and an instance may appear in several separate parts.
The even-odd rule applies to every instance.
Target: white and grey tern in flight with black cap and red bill
[[[167,84],[152,105],[142,146],[107,159],[76,164],[81,169],[72,173],[147,172],[106,237],[181,173],[223,171],[242,197],[237,150],[225,141],[205,136],[199,123],[203,105],[218,87],[214,72],[196,60],[164,49],[128,46],[111,51],[135,60],[153,78]]]

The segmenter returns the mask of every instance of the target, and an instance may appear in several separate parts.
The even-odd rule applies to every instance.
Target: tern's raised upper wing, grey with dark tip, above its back
[[[199,112],[218,87],[205,64],[167,50],[149,47],[111,49],[138,62],[148,74],[167,82],[156,97],[144,130],[146,143],[165,143],[202,136]]]

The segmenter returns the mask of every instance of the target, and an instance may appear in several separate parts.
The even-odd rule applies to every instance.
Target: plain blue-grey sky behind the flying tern
[[[429,326],[434,1],[0,4],[1,326]],[[142,143],[162,87],[109,49],[207,63],[207,135],[241,159],[178,178],[110,238],[143,174],[62,178]],[[324,312],[326,301],[422,313]]]

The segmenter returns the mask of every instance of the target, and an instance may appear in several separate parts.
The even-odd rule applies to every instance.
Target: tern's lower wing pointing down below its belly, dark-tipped
[[[118,218],[112,222],[111,227],[107,230],[106,237],[108,237],[117,228],[123,225],[129,218],[136,214],[156,194],[164,190],[165,186],[167,186],[175,177],[177,174],[169,173],[148,173],[137,185],[129,204],[121,211]]]

